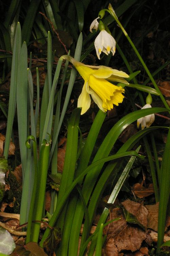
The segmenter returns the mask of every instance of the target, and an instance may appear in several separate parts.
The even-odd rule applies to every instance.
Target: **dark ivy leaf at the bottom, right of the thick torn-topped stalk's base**
[[[54,227],[51,229],[48,238],[44,241],[43,247],[47,252],[53,253],[56,246],[60,243],[62,237],[61,228]]]

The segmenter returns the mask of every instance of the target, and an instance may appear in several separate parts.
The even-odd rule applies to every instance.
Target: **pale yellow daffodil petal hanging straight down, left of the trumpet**
[[[78,108],[82,108],[81,115],[83,115],[89,108],[90,108],[90,95],[87,93],[86,90],[86,82],[83,85],[82,92],[78,98]]]

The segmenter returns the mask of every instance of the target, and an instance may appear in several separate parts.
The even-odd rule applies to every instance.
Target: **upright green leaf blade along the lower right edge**
[[[170,128],[167,136],[167,142],[165,145],[162,165],[160,168],[161,178],[160,178],[160,200],[159,200],[159,214],[158,214],[158,242],[157,242],[157,252],[160,251],[160,246],[164,241],[164,231],[165,231],[165,223],[166,223],[166,213],[167,213],[167,205],[170,195],[170,175],[169,175],[169,167],[170,167]]]

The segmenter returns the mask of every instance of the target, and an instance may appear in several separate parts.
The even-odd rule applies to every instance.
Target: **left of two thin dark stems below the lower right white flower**
[[[151,168],[151,175],[152,175],[153,187],[154,187],[154,192],[155,192],[155,200],[156,200],[156,202],[159,202],[159,192],[158,192],[158,185],[157,185],[157,180],[156,180],[155,166],[154,166],[154,162],[152,159],[152,154],[151,154],[151,150],[149,147],[149,143],[148,143],[148,140],[146,137],[143,137],[143,142],[145,144],[145,148],[146,148],[148,160],[149,160],[149,165]]]

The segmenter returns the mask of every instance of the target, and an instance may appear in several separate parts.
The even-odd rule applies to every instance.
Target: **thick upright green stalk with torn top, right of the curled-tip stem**
[[[36,201],[34,207],[33,218],[35,221],[41,221],[44,207],[44,199],[46,192],[48,161],[49,161],[50,143],[47,140],[43,140],[40,148],[39,161],[38,161],[38,182],[40,186],[37,186]],[[31,241],[38,242],[40,230],[40,223],[32,224]]]

